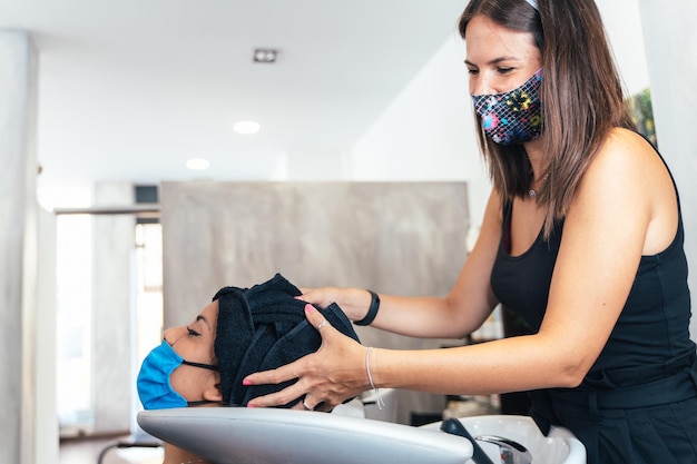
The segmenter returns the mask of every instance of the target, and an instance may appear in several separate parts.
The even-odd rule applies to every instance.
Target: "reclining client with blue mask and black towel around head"
[[[137,381],[143,407],[246,406],[283,389],[289,383],[247,386],[243,378],[320,348],[322,337],[307,323],[306,303],[295,298],[300,295],[279,274],[252,288],[219,289],[190,324],[166,329],[163,343],[144,359]],[[359,339],[337,305],[320,310],[332,326]],[[307,408],[303,397],[283,407]],[[324,411],[322,405],[315,409]],[[164,464],[192,458],[165,444]]]

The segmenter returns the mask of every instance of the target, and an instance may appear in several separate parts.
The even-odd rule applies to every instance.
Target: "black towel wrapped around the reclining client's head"
[[[223,287],[218,300],[215,355],[220,366],[223,403],[246,405],[253,398],[278,392],[295,381],[278,385],[242,385],[255,372],[292,363],[322,345],[320,333],[305,318],[306,303],[296,299],[301,290],[276,274],[252,288]],[[322,315],[342,334],[359,342],[348,318],[335,303]],[[296,398],[283,407],[291,407]]]

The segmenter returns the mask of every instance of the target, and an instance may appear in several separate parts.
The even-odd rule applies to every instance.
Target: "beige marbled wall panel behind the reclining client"
[[[277,272],[304,287],[444,295],[467,257],[464,182],[164,182],[160,197],[165,326],[190,320],[222,286]],[[395,348],[460,343],[359,335]],[[403,398],[400,421],[442,401]]]

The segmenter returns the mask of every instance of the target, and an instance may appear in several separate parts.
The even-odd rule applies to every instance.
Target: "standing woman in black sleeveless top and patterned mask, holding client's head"
[[[697,463],[697,367],[679,197],[637,135],[592,0],[472,0],[459,23],[493,190],[443,298],[305,290],[350,319],[463,337],[497,304],[530,336],[449,349],[369,349],[330,327],[316,354],[249,375],[298,378],[249,406],[337,404],[371,387],[534,391],[543,433],[570,428],[588,462]],[[377,304],[380,299],[380,304]],[[367,310],[371,308],[371,310]],[[312,306],[315,327],[324,318]]]

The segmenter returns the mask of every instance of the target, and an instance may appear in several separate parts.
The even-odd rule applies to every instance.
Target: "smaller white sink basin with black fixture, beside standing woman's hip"
[[[517,415],[484,415],[459,419],[470,435],[497,435],[523,445],[532,455],[533,464],[586,464],[586,448],[566,428],[552,427],[549,436],[542,435],[531,417]],[[440,430],[441,423],[422,428]],[[500,463],[499,447],[479,442],[480,447],[494,463]],[[472,461],[468,461],[472,464]]]

